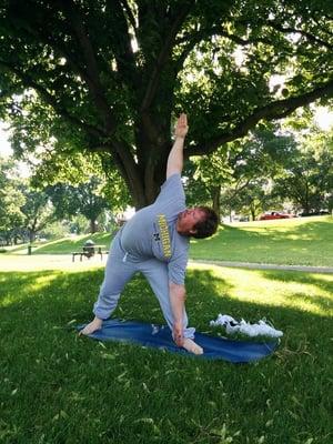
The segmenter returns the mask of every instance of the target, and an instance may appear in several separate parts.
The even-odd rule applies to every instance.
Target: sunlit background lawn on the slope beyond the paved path
[[[69,254],[88,239],[109,249],[111,235],[97,233],[37,244],[34,254]],[[27,245],[6,255],[27,254]],[[333,266],[333,218],[297,218],[223,225],[211,239],[192,241],[191,259]]]

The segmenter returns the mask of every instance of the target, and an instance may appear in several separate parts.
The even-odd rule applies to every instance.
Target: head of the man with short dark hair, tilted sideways
[[[218,225],[218,215],[212,209],[194,206],[179,214],[175,228],[182,235],[203,239],[214,234]]]

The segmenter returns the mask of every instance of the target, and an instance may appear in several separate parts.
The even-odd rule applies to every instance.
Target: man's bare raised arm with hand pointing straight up
[[[188,118],[186,114],[181,114],[176,121],[175,130],[174,130],[174,143],[170,151],[167,164],[167,179],[170,175],[180,173],[183,170],[183,149],[184,149],[184,140],[188,133]]]

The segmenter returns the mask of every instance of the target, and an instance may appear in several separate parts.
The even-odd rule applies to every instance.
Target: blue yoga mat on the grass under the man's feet
[[[77,330],[82,330],[84,325],[77,326]],[[90,334],[89,337],[99,341],[131,342],[189,356],[223,360],[233,363],[253,362],[269,356],[279,343],[279,341],[265,343],[231,341],[203,333],[195,333],[195,342],[202,346],[204,353],[202,355],[193,355],[174,344],[171,330],[167,325],[145,324],[117,319],[104,321],[102,329]]]

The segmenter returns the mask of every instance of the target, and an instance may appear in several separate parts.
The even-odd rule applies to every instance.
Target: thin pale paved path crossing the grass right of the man
[[[289,270],[289,271],[305,271],[307,273],[333,273],[332,266],[310,266],[310,265],[279,265],[263,264],[249,262],[229,262],[229,261],[209,261],[209,260],[190,260],[190,263],[203,263],[221,266],[232,266],[236,269],[253,269],[253,270]]]

